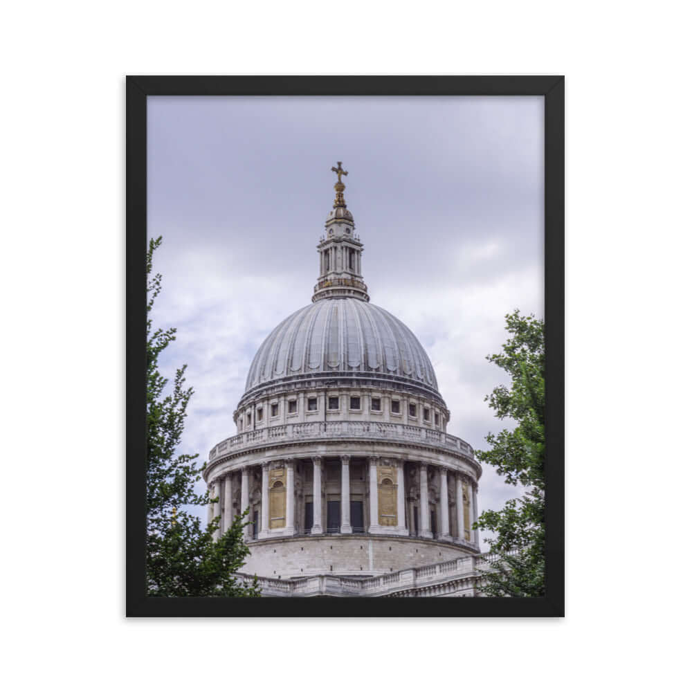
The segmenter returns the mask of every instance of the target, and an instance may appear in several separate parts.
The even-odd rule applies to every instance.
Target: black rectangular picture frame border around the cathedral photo
[[[145,595],[147,97],[542,95],[545,98],[546,595],[512,598],[152,598]],[[126,78],[127,617],[562,617],[565,602],[565,79],[562,76]]]

